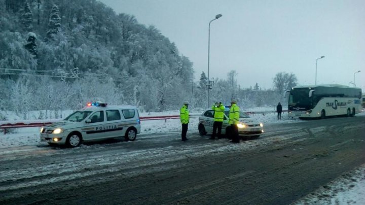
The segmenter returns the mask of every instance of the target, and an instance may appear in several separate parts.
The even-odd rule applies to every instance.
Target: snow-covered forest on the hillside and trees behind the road
[[[21,116],[79,109],[91,100],[142,111],[176,110],[185,100],[191,108],[207,106],[205,74],[195,81],[193,62],[132,15],[95,0],[0,0],[0,13],[0,110]],[[277,74],[277,89],[240,88],[236,75],[215,79],[212,102],[274,106],[296,82],[294,76],[276,87]]]

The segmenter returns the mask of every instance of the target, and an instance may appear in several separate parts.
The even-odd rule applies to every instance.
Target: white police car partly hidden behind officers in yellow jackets
[[[224,121],[222,124],[222,134],[229,133],[231,130],[229,124],[229,107],[225,108]],[[264,133],[264,125],[248,115],[240,112],[239,123],[237,124],[238,133],[242,136],[258,137]],[[214,110],[208,109],[204,111],[199,117],[199,134],[206,135],[207,132],[213,132]]]

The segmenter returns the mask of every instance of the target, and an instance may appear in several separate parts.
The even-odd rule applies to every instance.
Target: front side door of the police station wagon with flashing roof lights
[[[87,141],[104,138],[104,111],[96,111],[92,113],[87,119],[90,119],[91,122],[87,123],[83,128],[85,131],[85,134],[83,134],[83,140]]]

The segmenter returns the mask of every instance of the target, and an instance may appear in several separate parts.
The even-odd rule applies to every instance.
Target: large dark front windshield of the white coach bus
[[[311,107],[309,88],[295,88],[290,90],[288,106],[296,110],[308,110]],[[290,109],[291,110],[291,109]]]

